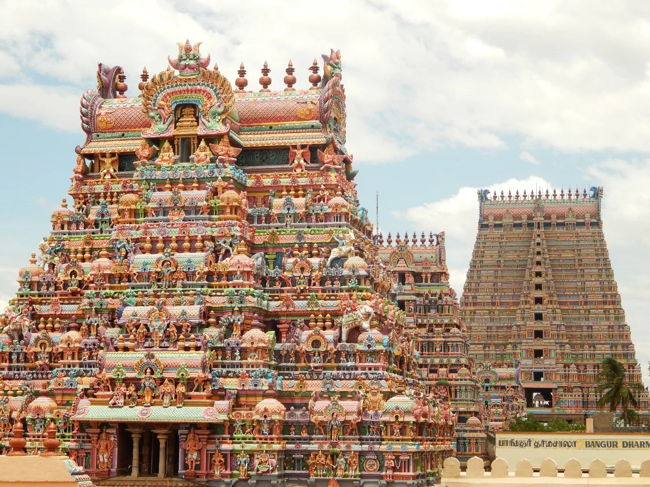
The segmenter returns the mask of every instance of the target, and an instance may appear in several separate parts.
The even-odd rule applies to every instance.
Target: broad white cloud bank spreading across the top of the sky
[[[0,86],[3,99],[16,100],[0,111],[76,131],[77,102],[94,86],[98,60],[122,65],[133,95],[142,66],[163,70],[174,42],[191,36],[231,79],[243,60],[251,89],[265,59],[272,88],[283,86],[289,59],[296,86],[306,87],[311,60],[341,49],[357,161],[454,144],[501,149],[510,135],[564,151],[650,150],[650,23],[642,0],[590,8],[547,0],[333,0],[337,20],[324,20],[326,29],[309,28],[309,19],[322,18],[316,4],[255,7],[246,0],[236,9],[118,0],[112,11],[147,12],[148,21],[122,15],[107,41],[86,35],[100,14],[93,3],[2,3],[0,60],[10,60],[23,90]]]

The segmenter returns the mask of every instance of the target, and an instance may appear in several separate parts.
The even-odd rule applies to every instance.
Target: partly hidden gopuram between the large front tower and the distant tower
[[[450,402],[456,422],[456,455],[465,461],[486,456],[486,434],[478,384],[469,358],[465,325],[458,316],[456,292],[449,287],[445,259],[445,232],[424,233],[395,243],[388,233],[378,238],[379,257],[391,278],[390,300],[406,317],[406,330],[417,351],[420,380],[440,399]],[[424,404],[426,406],[426,404]],[[437,408],[441,414],[441,408]],[[434,419],[435,420],[435,419]]]

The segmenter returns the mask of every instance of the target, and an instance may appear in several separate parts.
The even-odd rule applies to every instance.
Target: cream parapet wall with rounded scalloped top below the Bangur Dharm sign
[[[650,456],[650,455],[649,455]],[[558,471],[558,464],[552,458],[541,462],[539,471],[534,471],[532,462],[527,458],[517,461],[514,471],[503,458],[495,459],[491,471],[486,472],[484,461],[474,456],[467,461],[467,470],[460,471],[458,458],[450,457],[445,460],[441,483],[447,486],[469,487],[478,485],[519,486],[649,486],[650,459],[642,462],[640,471],[632,473],[630,462],[621,458],[614,463],[614,469],[608,473],[608,468],[600,458],[593,460],[588,466],[583,466],[575,458],[570,458],[564,464],[564,471]]]

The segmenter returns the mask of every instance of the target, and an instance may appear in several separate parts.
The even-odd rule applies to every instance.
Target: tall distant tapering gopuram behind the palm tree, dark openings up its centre
[[[461,298],[484,419],[527,408],[543,421],[597,412],[603,358],[641,382],[601,220],[603,189],[479,191],[478,234]],[[647,391],[640,414],[649,414]]]

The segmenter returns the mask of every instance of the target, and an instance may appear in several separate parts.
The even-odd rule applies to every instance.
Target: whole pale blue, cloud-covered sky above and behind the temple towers
[[[347,147],[383,233],[445,231],[460,296],[477,189],[604,187],[604,233],[650,385],[650,3],[640,1],[0,0],[0,305],[51,228],[84,140],[79,99],[98,62],[166,69],[176,42],[231,81],[307,88],[341,49]]]

